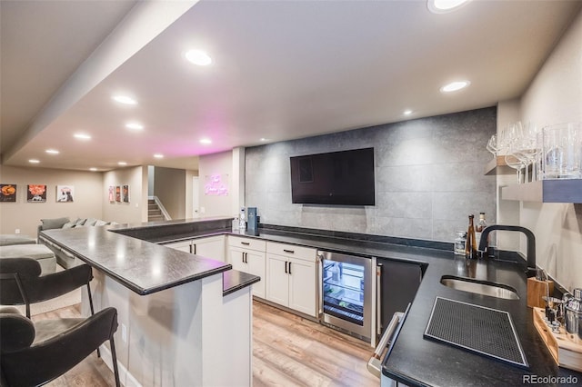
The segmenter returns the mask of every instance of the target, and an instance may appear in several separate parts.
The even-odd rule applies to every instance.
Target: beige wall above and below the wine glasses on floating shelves
[[[582,121],[582,12],[521,98],[521,119],[540,126]],[[537,264],[570,291],[582,287],[582,204],[522,203],[537,238]]]

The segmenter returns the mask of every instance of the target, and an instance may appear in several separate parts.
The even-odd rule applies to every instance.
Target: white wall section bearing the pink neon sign
[[[227,195],[205,194],[205,186],[210,183],[211,176],[220,176],[221,182],[228,188]],[[233,216],[238,212],[233,208],[233,154],[205,154],[198,162],[200,177],[200,215],[201,216]]]

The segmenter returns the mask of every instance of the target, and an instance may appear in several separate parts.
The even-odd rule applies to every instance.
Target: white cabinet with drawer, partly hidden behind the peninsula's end
[[[253,283],[253,295],[265,298],[266,242],[254,238],[228,236],[228,261],[233,269],[261,277]]]

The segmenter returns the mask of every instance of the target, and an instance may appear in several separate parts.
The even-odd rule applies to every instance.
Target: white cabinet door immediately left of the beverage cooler
[[[316,263],[290,259],[289,308],[316,316]]]

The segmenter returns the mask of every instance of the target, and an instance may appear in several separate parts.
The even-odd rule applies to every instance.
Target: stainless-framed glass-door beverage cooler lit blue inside
[[[372,260],[343,253],[318,254],[321,260],[321,321],[370,340]]]

